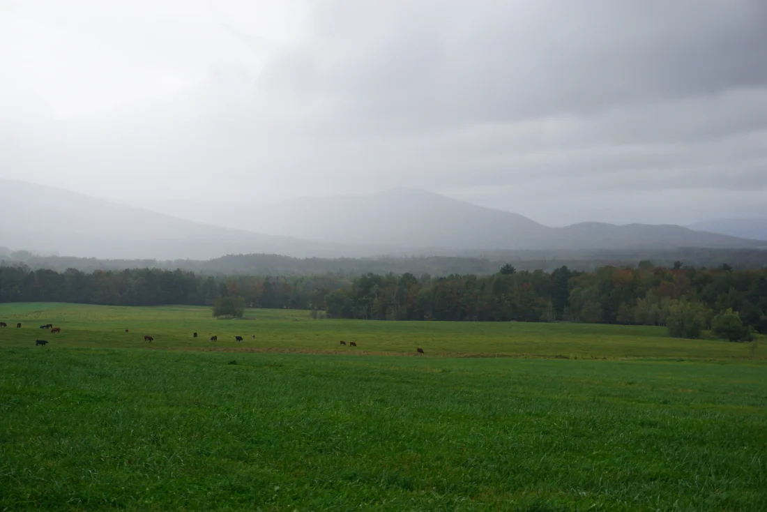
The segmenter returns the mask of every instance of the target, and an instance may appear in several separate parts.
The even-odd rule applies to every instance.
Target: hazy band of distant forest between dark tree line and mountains
[[[571,251],[492,251],[466,253],[463,256],[380,256],[376,258],[293,258],[277,254],[231,254],[209,260],[196,259],[97,259],[71,256],[45,256],[29,251],[11,251],[0,247],[0,266],[28,266],[82,272],[122,269],[182,269],[202,276],[360,276],[362,274],[424,273],[431,276],[476,274],[489,276],[504,263],[512,262],[519,270],[542,269],[553,272],[561,266],[579,271],[594,271],[602,266],[636,266],[650,260],[657,266],[672,266],[681,260],[689,266],[713,268],[729,264],[734,269],[764,269],[765,249],[634,249]]]

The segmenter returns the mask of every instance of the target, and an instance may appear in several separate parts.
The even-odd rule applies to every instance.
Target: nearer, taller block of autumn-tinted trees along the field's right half
[[[325,299],[328,316],[377,320],[571,322],[667,325],[696,337],[715,316],[738,312],[744,325],[767,333],[767,270],[604,266],[574,272],[416,278],[369,274]],[[672,329],[674,325],[671,326]]]

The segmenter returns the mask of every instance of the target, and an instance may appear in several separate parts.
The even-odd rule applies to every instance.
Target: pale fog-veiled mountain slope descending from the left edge
[[[31,183],[0,180],[0,191],[0,242],[12,249],[156,259],[255,252],[359,256],[374,250],[209,226]]]

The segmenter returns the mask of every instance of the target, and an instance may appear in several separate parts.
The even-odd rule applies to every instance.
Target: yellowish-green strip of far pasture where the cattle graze
[[[673,339],[659,327],[525,322],[373,322],[312,320],[306,311],[251,309],[244,320],[216,320],[209,308],[0,304],[0,344],[50,348],[177,348],[192,350],[566,358],[767,358],[767,346]],[[22,323],[15,329],[16,322]],[[54,335],[41,324],[60,326]],[[129,329],[130,332],[125,332]],[[192,333],[199,338],[193,339]],[[152,335],[152,344],[143,335]],[[217,335],[219,342],[209,341]],[[235,342],[242,335],[245,342]],[[252,339],[255,335],[255,339]],[[339,341],[357,342],[357,348]],[[764,344],[762,344],[764,345]]]

